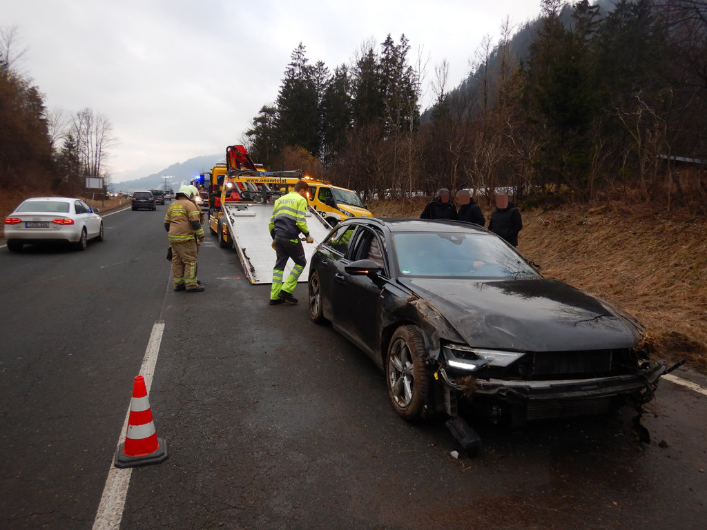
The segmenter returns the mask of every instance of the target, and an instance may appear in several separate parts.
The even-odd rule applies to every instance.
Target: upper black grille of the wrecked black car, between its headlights
[[[530,379],[545,377],[597,377],[625,373],[631,365],[628,350],[549,351],[532,354],[526,365]],[[636,366],[635,361],[633,366]]]

